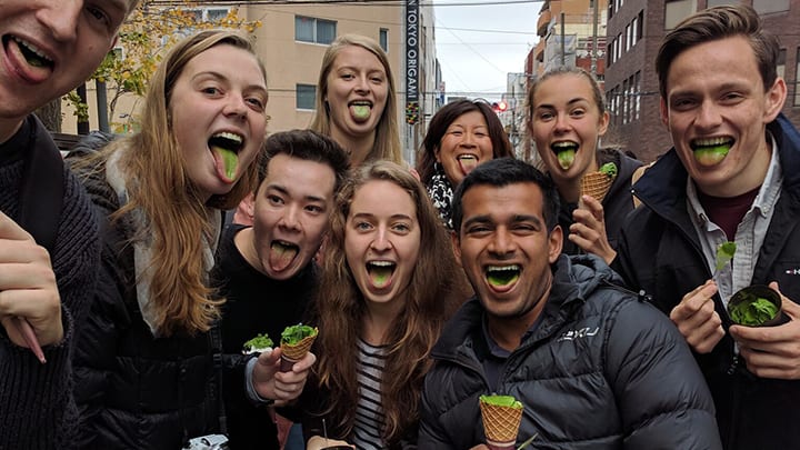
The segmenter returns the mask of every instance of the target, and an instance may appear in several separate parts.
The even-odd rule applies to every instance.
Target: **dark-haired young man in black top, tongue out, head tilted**
[[[349,167],[336,141],[310,130],[272,134],[264,147],[258,187],[244,203],[253,224],[226,230],[213,271],[227,299],[221,330],[229,354],[258,333],[268,333],[277,344],[283,328],[306,318],[319,278],[313,257]],[[239,380],[229,381],[228,391],[234,392]],[[234,400],[241,396],[226,397],[231,447],[277,449],[269,399],[247,403]]]

